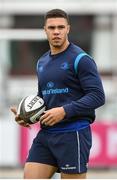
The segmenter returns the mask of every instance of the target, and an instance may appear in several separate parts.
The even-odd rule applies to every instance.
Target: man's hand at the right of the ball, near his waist
[[[52,108],[50,110],[44,111],[44,115],[41,116],[41,124],[47,126],[53,126],[54,124],[60,122],[65,117],[65,111],[63,107]]]

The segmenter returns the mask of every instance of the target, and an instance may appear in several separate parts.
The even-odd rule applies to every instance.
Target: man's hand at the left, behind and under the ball
[[[10,110],[13,112],[13,114],[15,115],[15,121],[21,125],[21,126],[24,126],[24,127],[29,127],[30,128],[30,125],[26,122],[24,122],[23,119],[20,118],[20,116],[17,114],[17,110],[15,107],[11,107]]]

